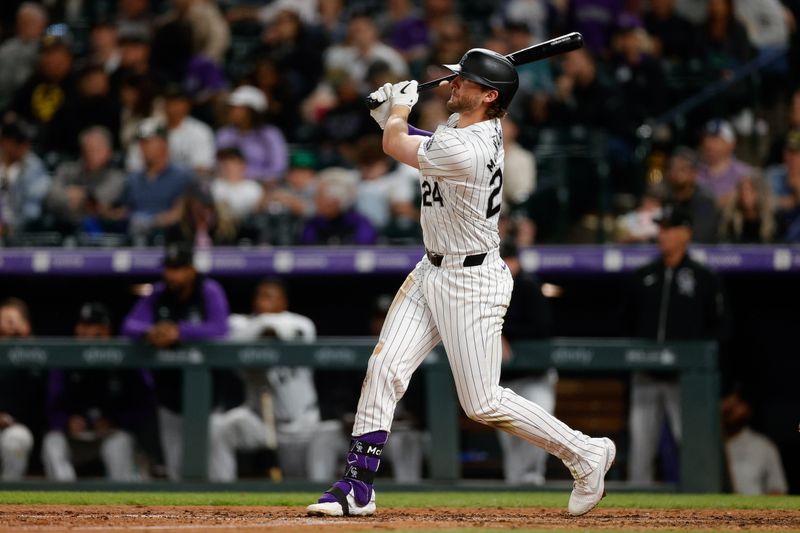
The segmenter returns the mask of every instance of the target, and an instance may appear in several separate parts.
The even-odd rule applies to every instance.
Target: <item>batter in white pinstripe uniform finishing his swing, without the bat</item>
[[[500,118],[517,91],[517,71],[502,55],[481,48],[445,66],[457,74],[447,102],[452,115],[433,134],[407,122],[418,99],[416,81],[387,83],[370,95],[380,102],[371,114],[383,128],[384,151],[420,170],[426,252],[397,292],[370,357],[344,475],[307,510],[375,513],[372,483],[395,405],[441,341],[467,416],[561,459],[575,478],[569,512],[579,516],[605,494],[614,443],[575,431],[499,385],[503,317],[514,283],[498,253]]]

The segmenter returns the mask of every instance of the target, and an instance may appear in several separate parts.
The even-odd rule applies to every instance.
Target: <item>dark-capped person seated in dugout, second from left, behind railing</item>
[[[108,308],[100,302],[83,304],[75,337],[92,342],[111,336]],[[47,377],[47,414],[49,430],[42,441],[47,479],[75,481],[79,475],[98,470],[112,481],[142,479],[135,460],[134,435],[155,415],[148,371],[51,370]]]

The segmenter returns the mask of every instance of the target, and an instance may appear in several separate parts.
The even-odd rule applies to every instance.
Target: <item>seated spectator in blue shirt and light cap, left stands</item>
[[[123,210],[117,216],[127,218],[134,242],[143,242],[181,219],[181,197],[192,175],[171,163],[167,130],[161,121],[142,121],[137,138],[144,169],[128,175]]]

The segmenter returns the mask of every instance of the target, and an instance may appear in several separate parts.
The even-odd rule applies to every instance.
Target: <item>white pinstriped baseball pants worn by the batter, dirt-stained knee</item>
[[[561,459],[573,477],[598,465],[604,449],[537,404],[500,387],[503,317],[513,278],[497,250],[483,264],[441,267],[423,258],[397,292],[369,360],[353,435],[391,429],[394,409],[425,356],[442,341],[467,416]]]

